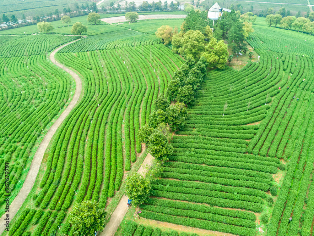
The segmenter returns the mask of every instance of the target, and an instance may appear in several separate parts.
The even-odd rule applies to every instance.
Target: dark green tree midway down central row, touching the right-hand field
[[[170,105],[166,110],[167,121],[172,130],[178,130],[185,126],[187,108],[183,103]]]

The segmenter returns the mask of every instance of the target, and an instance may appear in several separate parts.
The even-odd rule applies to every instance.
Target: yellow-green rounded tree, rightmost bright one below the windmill
[[[223,40],[217,42],[215,38],[212,38],[202,56],[207,59],[210,67],[224,69],[229,56],[228,45]]]

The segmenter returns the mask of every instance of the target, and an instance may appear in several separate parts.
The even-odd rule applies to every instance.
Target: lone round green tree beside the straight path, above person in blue
[[[149,180],[136,172],[133,172],[125,181],[125,195],[132,199],[133,205],[145,202],[149,197],[150,189]]]

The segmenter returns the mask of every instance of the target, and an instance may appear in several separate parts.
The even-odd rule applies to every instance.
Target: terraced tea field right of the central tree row
[[[248,43],[259,62],[208,73],[142,217],[243,236],[260,226],[271,236],[311,235],[314,60],[304,43],[312,38],[254,28]],[[274,177],[286,163],[280,185]]]

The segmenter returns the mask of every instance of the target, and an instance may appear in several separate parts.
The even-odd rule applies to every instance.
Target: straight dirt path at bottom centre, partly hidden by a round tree
[[[143,176],[146,175],[146,169],[144,169],[144,166],[148,165],[152,159],[153,157],[150,155],[150,153],[148,153],[143,161],[143,164],[138,169],[139,174],[142,174]],[[121,191],[123,191],[123,189],[121,189]],[[116,233],[117,228],[127,213],[127,200],[128,197],[123,195],[116,210],[112,213],[110,221],[106,224],[104,230],[99,234],[100,236],[113,236]]]

